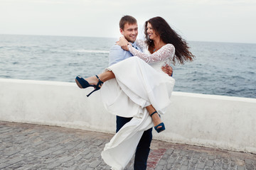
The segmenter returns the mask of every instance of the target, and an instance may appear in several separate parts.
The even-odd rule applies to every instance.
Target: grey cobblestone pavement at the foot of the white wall
[[[110,169],[100,153],[112,135],[0,121],[0,169]],[[133,169],[133,160],[126,170]],[[256,169],[256,154],[153,140],[152,169]]]

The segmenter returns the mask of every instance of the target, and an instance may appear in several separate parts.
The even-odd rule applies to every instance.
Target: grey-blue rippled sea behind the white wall
[[[75,82],[78,75],[101,73],[116,41],[0,35],[0,78]],[[256,44],[188,41],[188,45],[196,60],[171,65],[174,91],[256,98]]]

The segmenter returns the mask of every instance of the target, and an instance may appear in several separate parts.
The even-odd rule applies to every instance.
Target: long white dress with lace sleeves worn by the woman
[[[137,45],[146,49],[142,40],[137,40]],[[102,152],[102,159],[114,170],[124,169],[132,159],[144,130],[154,126],[145,107],[151,104],[158,113],[164,114],[170,105],[175,83],[172,77],[161,71],[161,66],[173,59],[174,45],[164,45],[153,54],[140,52],[131,46],[129,51],[134,57],[108,67],[107,70],[111,70],[116,78],[106,81],[100,90],[107,111],[132,117]]]

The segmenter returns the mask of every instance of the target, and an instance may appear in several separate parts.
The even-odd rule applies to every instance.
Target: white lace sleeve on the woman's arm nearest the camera
[[[128,45],[128,47],[129,47],[129,52],[131,52],[132,55],[141,58],[146,63],[171,60],[172,57],[174,57],[174,52],[175,52],[174,45],[172,45],[172,44],[164,45],[163,47],[161,47],[158,51],[154,52],[153,54],[146,54],[146,53],[140,52],[139,50],[135,49],[131,45]]]

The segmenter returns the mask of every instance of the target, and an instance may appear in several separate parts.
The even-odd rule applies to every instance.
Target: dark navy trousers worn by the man
[[[125,123],[128,123],[132,118],[123,118],[117,115],[117,130],[118,132]],[[152,128],[144,131],[142,138],[139,140],[134,158],[134,170],[146,170],[146,161],[149,157],[150,144],[152,140]]]

